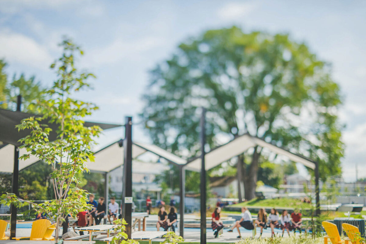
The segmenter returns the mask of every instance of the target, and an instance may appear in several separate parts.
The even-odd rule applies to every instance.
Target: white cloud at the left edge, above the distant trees
[[[47,69],[52,62],[48,50],[35,40],[17,33],[0,33],[0,58],[8,62]]]

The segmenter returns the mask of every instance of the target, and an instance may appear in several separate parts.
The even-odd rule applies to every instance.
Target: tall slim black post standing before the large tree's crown
[[[202,107],[202,115],[201,115],[201,244],[206,244],[205,113],[206,113],[206,109]]]

